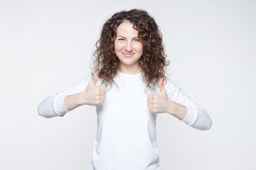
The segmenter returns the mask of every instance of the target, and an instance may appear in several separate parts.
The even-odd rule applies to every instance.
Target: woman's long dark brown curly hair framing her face
[[[138,38],[142,40],[143,53],[139,58],[142,67],[143,79],[146,87],[154,87],[159,80],[165,76],[166,61],[162,34],[154,18],[146,11],[132,9],[130,11],[120,11],[107,20],[102,27],[100,39],[96,42],[96,50],[93,53],[94,69],[98,77],[102,79],[102,84],[114,83],[119,69],[119,59],[114,52],[114,40],[117,36],[117,27],[124,21],[134,24],[134,29],[138,30]]]

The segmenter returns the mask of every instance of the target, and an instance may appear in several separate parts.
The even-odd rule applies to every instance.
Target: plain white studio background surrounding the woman
[[[37,107],[90,73],[112,14],[148,11],[164,35],[170,79],[208,110],[210,130],[157,118],[161,170],[256,169],[255,1],[0,1],[0,169],[86,170],[95,107],[42,118]]]

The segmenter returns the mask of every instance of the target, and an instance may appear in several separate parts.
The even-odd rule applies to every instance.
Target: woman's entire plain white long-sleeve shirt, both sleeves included
[[[65,96],[84,91],[92,79],[82,79],[65,91],[49,96],[38,106],[38,114],[46,118],[63,116]],[[108,89],[102,105],[96,106],[97,137],[92,149],[90,170],[159,170],[159,152],[156,145],[156,116],[147,108],[147,96],[142,73],[118,72],[118,84]],[[182,121],[199,130],[208,130],[211,119],[205,108],[193,102],[169,78],[164,88],[171,101],[187,107]],[[101,80],[97,81],[101,85]],[[156,94],[159,89],[156,89]]]

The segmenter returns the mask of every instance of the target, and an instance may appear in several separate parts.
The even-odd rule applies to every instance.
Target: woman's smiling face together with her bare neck
[[[120,61],[120,71],[128,74],[141,71],[139,58],[143,52],[138,30],[135,30],[133,26],[129,21],[121,23],[117,27],[117,38],[114,40],[114,52]]]

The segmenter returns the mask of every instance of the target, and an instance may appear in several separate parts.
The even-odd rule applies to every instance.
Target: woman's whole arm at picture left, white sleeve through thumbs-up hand
[[[55,96],[44,99],[38,106],[38,114],[45,118],[52,118],[63,116],[82,105],[95,106],[102,104],[105,101],[105,91],[107,89],[104,86],[96,86],[97,74],[87,85],[89,80],[90,77],[87,77],[78,84],[70,86],[66,91],[61,91]]]

